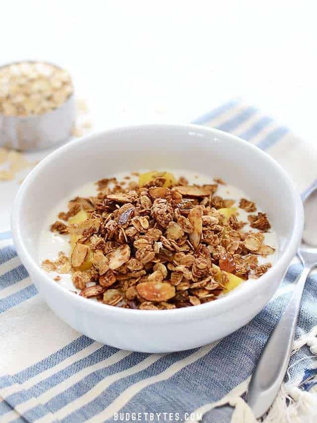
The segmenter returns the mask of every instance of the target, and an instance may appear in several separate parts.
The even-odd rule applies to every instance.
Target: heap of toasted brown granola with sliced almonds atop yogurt
[[[51,224],[70,254],[42,266],[69,273],[80,296],[108,305],[161,310],[214,301],[262,276],[271,267],[263,257],[275,251],[265,244],[266,214],[249,214],[257,210],[249,199],[219,195],[219,184],[228,189],[222,179],[191,185],[168,172],[97,181],[95,195],[70,200]]]

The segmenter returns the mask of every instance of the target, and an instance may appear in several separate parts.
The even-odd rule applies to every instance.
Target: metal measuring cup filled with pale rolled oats
[[[67,139],[75,120],[73,93],[69,73],[54,64],[0,67],[0,145],[28,150]]]

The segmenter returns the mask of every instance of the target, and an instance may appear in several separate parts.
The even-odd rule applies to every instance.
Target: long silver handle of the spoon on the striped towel
[[[294,283],[296,285],[291,300],[272,330],[251,377],[247,403],[257,419],[273,403],[283,382],[292,351],[303,290],[310,271],[310,267],[304,267]]]

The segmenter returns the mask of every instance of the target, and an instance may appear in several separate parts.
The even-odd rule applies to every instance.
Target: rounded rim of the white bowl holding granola
[[[80,297],[79,295],[74,295],[72,292],[68,291],[64,287],[56,284],[52,278],[46,272],[41,269],[40,264],[37,263],[28,252],[28,249],[23,241],[23,237],[21,236],[21,222],[20,216],[23,210],[23,199],[25,194],[28,191],[29,186],[31,186],[35,179],[36,175],[39,171],[53,162],[57,157],[63,155],[67,151],[72,150],[78,144],[85,144],[90,142],[93,139],[99,137],[106,137],[111,135],[111,133],[117,132],[129,132],[133,130],[147,130],[147,129],[165,129],[165,130],[190,130],[190,131],[203,131],[212,136],[225,136],[226,138],[230,138],[232,141],[242,143],[246,145],[250,150],[256,152],[256,154],[262,155],[264,161],[270,164],[270,166],[274,167],[280,174],[281,178],[283,178],[284,182],[288,186],[291,195],[292,195],[292,207],[294,207],[294,225],[292,228],[291,236],[287,240],[287,245],[285,250],[278,258],[278,261],[269,269],[261,278],[259,278],[259,283],[257,284],[245,284],[241,287],[240,290],[233,290],[230,295],[218,298],[216,301],[207,302],[204,304],[200,304],[199,306],[193,307],[182,307],[176,309],[164,309],[164,310],[138,310],[138,309],[126,309],[121,307],[114,307],[111,305],[107,305],[100,302],[95,301],[87,301],[86,298]],[[206,141],[208,142],[208,140]],[[106,145],[106,143],[105,143]],[[206,316],[211,316],[214,314],[218,314],[219,312],[223,312],[228,308],[232,308],[234,305],[245,302],[247,299],[252,298],[253,294],[256,294],[257,291],[260,289],[265,282],[268,282],[269,279],[278,277],[278,273],[280,273],[280,269],[286,269],[289,263],[291,262],[292,258],[296,253],[296,249],[298,247],[299,242],[301,241],[302,231],[304,228],[304,210],[303,204],[301,201],[301,197],[299,193],[296,191],[295,186],[291,178],[287,175],[284,169],[266,152],[259,149],[256,145],[251,144],[248,141],[245,141],[235,135],[232,135],[228,132],[220,131],[218,129],[214,129],[207,126],[197,125],[197,124],[170,124],[170,123],[151,123],[151,124],[136,124],[136,125],[127,125],[127,126],[119,126],[111,129],[106,129],[103,131],[95,132],[90,135],[86,135],[76,142],[69,141],[63,146],[54,150],[51,154],[49,154],[46,158],[44,158],[26,177],[26,179],[21,184],[17,195],[15,197],[12,213],[11,213],[11,229],[12,229],[12,236],[14,245],[16,247],[17,253],[25,265],[27,270],[29,269],[29,273],[31,274],[34,279],[44,279],[46,284],[50,286],[54,292],[62,294],[65,296],[65,299],[68,297],[69,303],[76,302],[78,307],[85,309],[87,312],[100,312],[106,316],[106,314],[111,315],[113,318],[119,318],[125,320],[128,317],[130,320],[138,320],[144,318],[150,319],[149,321],[157,321],[162,323],[165,321],[168,323],[172,318],[174,322],[181,322],[184,321],[184,317],[191,320],[201,320]],[[247,295],[248,294],[248,295]]]

